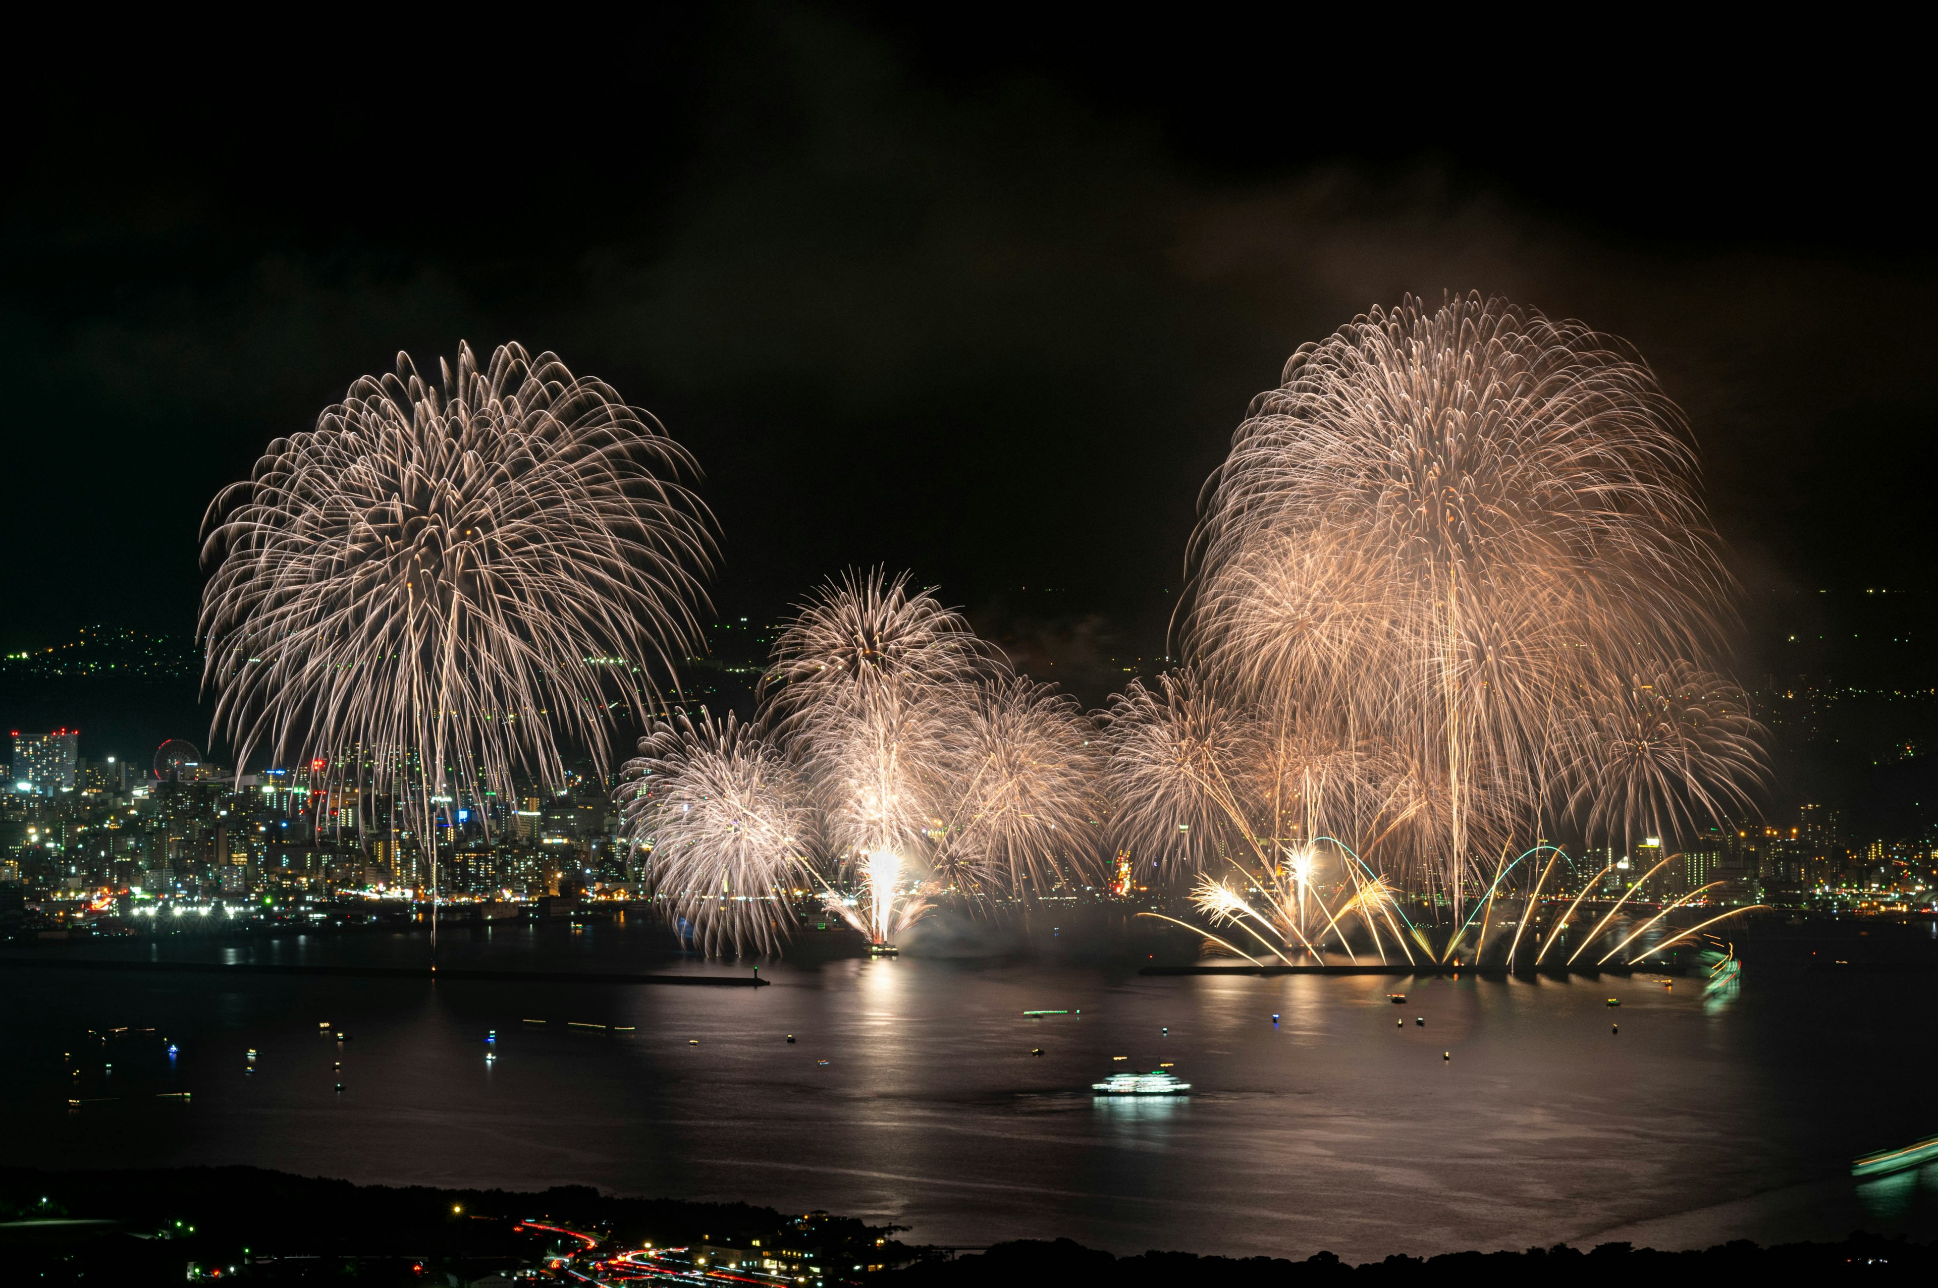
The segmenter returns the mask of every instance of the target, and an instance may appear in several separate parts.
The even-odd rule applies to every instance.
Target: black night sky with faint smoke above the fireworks
[[[1469,289],[1640,347],[1752,591],[1930,589],[1926,108],[1890,48],[897,14],[23,58],[0,643],[188,631],[219,484],[399,349],[516,339],[698,455],[723,616],[886,562],[1081,682],[1163,651],[1287,354]]]

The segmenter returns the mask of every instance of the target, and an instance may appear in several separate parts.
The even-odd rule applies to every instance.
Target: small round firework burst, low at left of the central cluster
[[[810,813],[781,753],[729,715],[659,722],[620,786],[624,837],[649,848],[653,893],[707,951],[771,953],[816,881]]]

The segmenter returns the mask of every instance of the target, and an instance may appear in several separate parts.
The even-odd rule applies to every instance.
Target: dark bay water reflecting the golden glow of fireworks
[[[564,934],[453,937],[444,959],[721,970],[649,957],[622,928]],[[422,943],[174,951],[368,963],[419,961]],[[589,1183],[828,1209],[955,1245],[1372,1259],[1938,1234],[1938,1168],[1847,1176],[1859,1152],[1938,1133],[1919,976],[1752,972],[1719,1003],[1645,976],[1143,978],[1054,955],[762,974],[771,988],[8,968],[0,1162]],[[1023,1019],[1039,1007],[1081,1015]],[[85,1038],[116,1027],[132,1032]],[[1159,1061],[1188,1098],[1087,1090]]]

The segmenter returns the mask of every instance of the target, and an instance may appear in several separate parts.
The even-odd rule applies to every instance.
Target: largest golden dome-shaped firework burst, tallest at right
[[[1479,296],[1376,308],[1293,356],[1207,484],[1188,651],[1264,719],[1405,765],[1382,862],[1457,912],[1543,804],[1607,819],[1570,775],[1632,676],[1715,666],[1731,587],[1696,482],[1618,343]],[[1684,744],[1698,800],[1752,732]]]

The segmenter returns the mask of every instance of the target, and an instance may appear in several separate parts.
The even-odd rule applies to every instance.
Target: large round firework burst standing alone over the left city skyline
[[[236,763],[360,744],[432,885],[453,781],[558,784],[568,742],[605,771],[609,703],[651,707],[713,552],[692,459],[610,385],[517,345],[440,370],[399,354],[215,498],[200,626]]]

